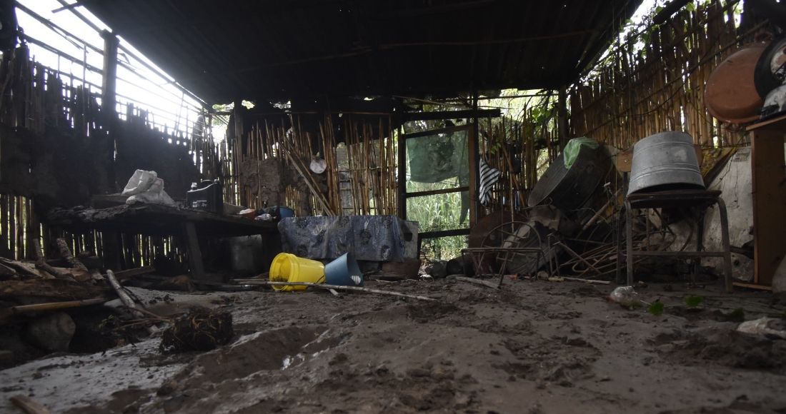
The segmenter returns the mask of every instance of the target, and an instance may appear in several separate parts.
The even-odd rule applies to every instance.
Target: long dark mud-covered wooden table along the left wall
[[[202,253],[197,237],[278,234],[277,224],[274,222],[146,203],[81,211],[57,210],[47,216],[46,222],[73,233],[98,230],[145,236],[185,236],[188,241],[189,265],[195,280],[204,280]]]

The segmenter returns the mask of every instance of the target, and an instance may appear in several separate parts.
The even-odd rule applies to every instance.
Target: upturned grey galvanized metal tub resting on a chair
[[[679,189],[706,189],[693,138],[670,131],[638,141],[630,163],[628,194]]]

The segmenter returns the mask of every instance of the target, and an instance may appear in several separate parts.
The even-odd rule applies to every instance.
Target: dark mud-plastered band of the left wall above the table
[[[185,199],[190,184],[199,179],[188,148],[169,143],[145,125],[116,126],[115,144],[109,145],[97,137],[75,136],[70,127],[48,126],[39,136],[0,125],[0,192],[35,200],[40,213],[120,192],[134,170],[141,169],[155,170],[171,197]],[[116,153],[110,154],[112,147]]]

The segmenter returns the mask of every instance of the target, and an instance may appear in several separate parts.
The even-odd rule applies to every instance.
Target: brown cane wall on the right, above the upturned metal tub
[[[713,69],[763,26],[738,33],[736,4],[711,0],[692,12],[683,9],[636,41],[616,44],[589,79],[570,90],[573,136],[628,148],[651,134],[684,130],[696,144],[744,144],[739,129],[719,123],[703,101]]]

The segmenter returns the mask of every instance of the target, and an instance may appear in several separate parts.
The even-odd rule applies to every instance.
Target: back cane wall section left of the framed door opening
[[[303,128],[304,117],[314,130]],[[285,179],[281,205],[292,207],[296,215],[318,214],[396,214],[396,152],[395,131],[389,115],[354,116],[351,113],[292,115],[286,129],[278,125],[256,123],[241,140],[223,142],[219,152],[225,185],[225,200],[249,208],[262,208],[266,201],[260,187],[259,171],[248,180],[240,174],[241,165],[251,159],[261,168],[260,161],[275,159],[283,164],[282,171],[295,180]],[[340,125],[336,125],[340,124]],[[243,145],[245,145],[243,147]],[[289,154],[289,155],[288,155]],[[314,174],[309,165],[312,156],[325,159],[326,169]],[[291,156],[290,156],[291,155]],[[300,174],[293,166],[297,163]],[[309,181],[318,195],[304,185]]]

